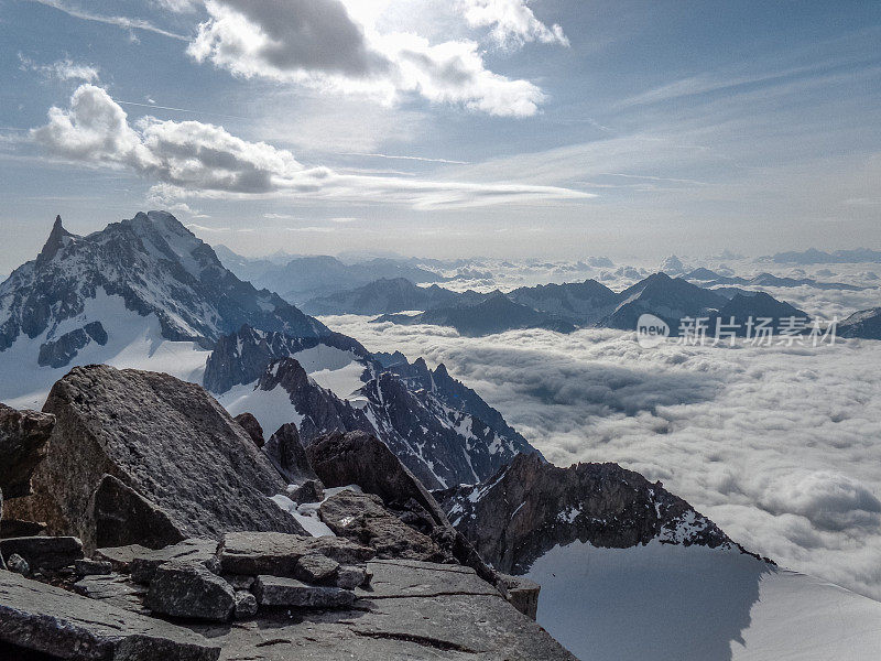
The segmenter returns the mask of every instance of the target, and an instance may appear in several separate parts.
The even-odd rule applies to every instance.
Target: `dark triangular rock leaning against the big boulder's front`
[[[184,539],[166,512],[111,475],[101,478],[90,509],[97,546],[161,549]]]

